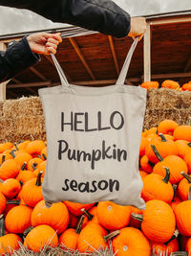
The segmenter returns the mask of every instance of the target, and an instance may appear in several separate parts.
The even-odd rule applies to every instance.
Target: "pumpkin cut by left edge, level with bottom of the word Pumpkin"
[[[20,165],[14,159],[9,159],[0,167],[0,179],[6,180],[15,177],[18,175],[20,169]]]

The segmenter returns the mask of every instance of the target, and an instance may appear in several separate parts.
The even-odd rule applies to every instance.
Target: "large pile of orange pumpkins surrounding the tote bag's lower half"
[[[111,201],[47,208],[46,160],[41,140],[0,144],[0,255],[20,244],[33,252],[49,245],[91,253],[112,244],[117,256],[191,255],[191,126],[163,120],[142,132],[145,210]]]

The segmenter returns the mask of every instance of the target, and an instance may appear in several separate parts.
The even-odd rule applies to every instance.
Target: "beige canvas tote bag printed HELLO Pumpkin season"
[[[144,209],[138,153],[146,89],[124,85],[137,43],[117,83],[105,87],[69,84],[52,56],[61,85],[39,90],[48,142],[42,185],[48,207],[63,200],[111,200]]]

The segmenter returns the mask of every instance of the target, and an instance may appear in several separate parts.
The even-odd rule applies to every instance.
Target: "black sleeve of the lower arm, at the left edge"
[[[10,80],[39,60],[39,55],[32,53],[28,40],[24,37],[6,52],[0,52],[0,82]]]

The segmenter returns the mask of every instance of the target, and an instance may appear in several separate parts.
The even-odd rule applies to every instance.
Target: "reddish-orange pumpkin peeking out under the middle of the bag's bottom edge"
[[[89,203],[89,204],[82,204],[78,202],[72,202],[72,201],[64,201],[65,205],[67,206],[69,212],[73,214],[74,216],[80,216],[82,215],[81,209],[89,210],[91,207],[95,205],[95,203]]]

